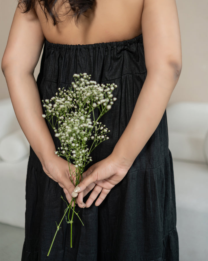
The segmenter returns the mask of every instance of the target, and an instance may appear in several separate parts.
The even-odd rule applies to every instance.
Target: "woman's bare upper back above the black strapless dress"
[[[60,17],[61,23],[53,26],[51,18],[46,20],[38,2],[36,13],[44,36],[49,42],[58,44],[94,44],[102,42],[132,39],[142,33],[141,17],[143,0],[98,0],[93,10],[88,9],[81,15],[78,25],[71,15]],[[60,8],[55,5],[58,14],[64,14],[69,4]],[[69,14],[73,14],[71,11]]]

